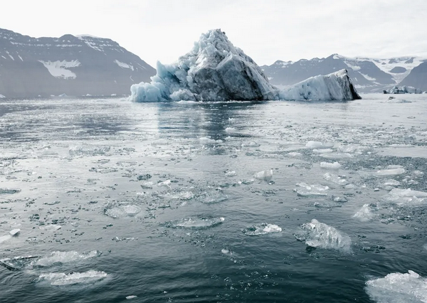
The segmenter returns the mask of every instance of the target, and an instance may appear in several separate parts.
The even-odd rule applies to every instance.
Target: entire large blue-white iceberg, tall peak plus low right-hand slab
[[[279,90],[221,29],[203,33],[176,63],[157,62],[151,83],[134,84],[130,91],[130,100],[135,102],[360,99],[347,70]]]

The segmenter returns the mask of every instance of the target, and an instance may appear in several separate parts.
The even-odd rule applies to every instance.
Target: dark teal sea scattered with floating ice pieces
[[[427,302],[427,96],[0,101],[0,302]]]

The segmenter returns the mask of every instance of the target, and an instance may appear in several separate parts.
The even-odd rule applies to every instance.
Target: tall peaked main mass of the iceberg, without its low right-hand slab
[[[176,63],[157,63],[157,75],[151,83],[132,85],[131,99],[274,100],[276,90],[260,67],[216,29],[202,34],[194,48]]]

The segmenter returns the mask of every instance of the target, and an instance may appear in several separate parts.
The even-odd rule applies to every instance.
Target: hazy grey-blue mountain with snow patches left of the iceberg
[[[0,94],[129,95],[156,70],[107,38],[31,38],[0,28]]]

